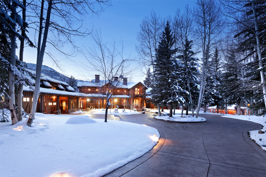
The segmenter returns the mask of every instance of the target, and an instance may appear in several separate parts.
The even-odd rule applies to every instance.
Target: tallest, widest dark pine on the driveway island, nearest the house
[[[184,102],[183,95],[186,92],[179,86],[182,82],[181,75],[183,67],[182,63],[175,59],[177,49],[173,49],[175,37],[171,32],[169,22],[165,26],[158,48],[156,49],[156,57],[154,61],[153,78],[151,93],[153,95],[153,103],[161,105],[169,105],[170,115],[172,117],[173,104],[176,102]]]

